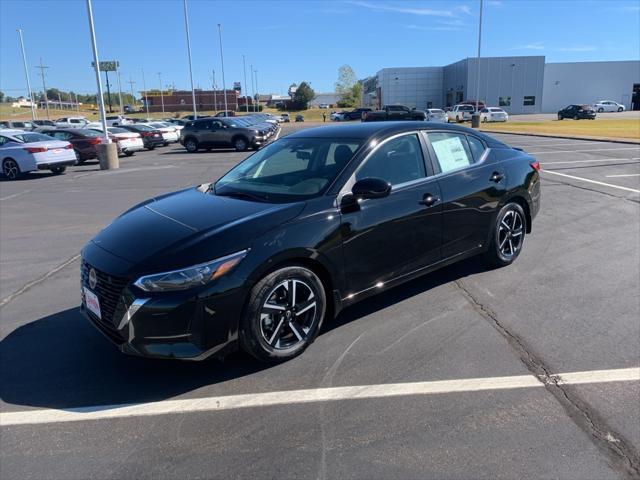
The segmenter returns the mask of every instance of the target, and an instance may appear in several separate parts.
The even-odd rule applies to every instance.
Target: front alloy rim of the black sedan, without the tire
[[[306,342],[318,308],[312,287],[300,279],[287,279],[266,298],[260,310],[260,332],[265,342],[276,350]]]

